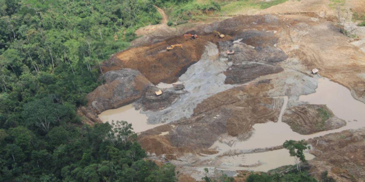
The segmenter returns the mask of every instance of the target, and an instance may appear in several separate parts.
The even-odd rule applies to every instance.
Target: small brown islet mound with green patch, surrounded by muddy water
[[[346,125],[345,120],[337,118],[325,105],[314,104],[287,108],[283,122],[302,135],[333,130]]]

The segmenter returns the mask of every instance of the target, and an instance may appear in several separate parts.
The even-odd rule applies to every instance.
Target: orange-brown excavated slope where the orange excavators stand
[[[183,47],[166,51],[166,47],[178,43]],[[174,83],[189,66],[200,59],[206,43],[203,38],[190,40],[181,35],[150,46],[120,52],[104,62],[102,70],[106,72],[131,68],[141,72],[153,84]]]

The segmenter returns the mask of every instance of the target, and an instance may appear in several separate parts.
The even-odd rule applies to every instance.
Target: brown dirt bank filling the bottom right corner
[[[336,181],[364,182],[365,179],[365,129],[346,130],[310,139],[316,158],[309,161],[311,171],[320,179],[320,173]]]

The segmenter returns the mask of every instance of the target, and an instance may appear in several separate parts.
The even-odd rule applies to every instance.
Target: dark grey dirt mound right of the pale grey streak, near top
[[[270,38],[262,35],[266,35],[266,32],[250,30],[236,36],[237,39],[239,38],[237,41],[242,39],[241,42],[245,39],[245,42],[250,43],[251,40],[248,39],[253,39],[255,42],[253,45],[258,47],[248,46],[245,43],[236,43],[236,41],[234,43],[230,41],[219,43],[221,52],[225,52],[224,50],[234,51],[234,55],[227,55],[228,62],[232,62],[232,66],[224,72],[227,76],[224,83],[242,84],[262,75],[283,71],[283,68],[276,66],[274,63],[281,62],[287,59],[288,56],[282,50],[272,46],[276,43],[273,41],[275,40],[273,34],[268,36]]]

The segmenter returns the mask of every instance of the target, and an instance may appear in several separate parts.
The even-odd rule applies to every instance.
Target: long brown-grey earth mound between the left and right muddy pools
[[[207,149],[223,133],[247,138],[253,124],[277,121],[282,99],[260,92],[271,87],[269,83],[256,83],[220,92],[198,104],[191,118],[145,131],[139,141],[149,152],[174,155]],[[166,131],[169,134],[159,136]]]

